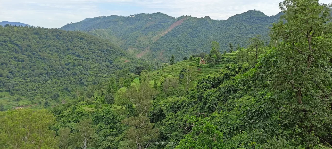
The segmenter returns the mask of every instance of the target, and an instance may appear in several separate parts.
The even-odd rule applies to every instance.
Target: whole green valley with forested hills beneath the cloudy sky
[[[332,149],[332,4],[279,8],[0,25],[0,149]]]

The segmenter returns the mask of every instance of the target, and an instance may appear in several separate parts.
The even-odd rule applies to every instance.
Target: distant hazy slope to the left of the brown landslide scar
[[[119,45],[124,49],[132,46],[143,50],[152,44],[152,37],[161,34],[176,21],[163,13],[143,13],[128,17],[112,15],[85,19],[60,29],[84,30],[114,43],[121,42]]]

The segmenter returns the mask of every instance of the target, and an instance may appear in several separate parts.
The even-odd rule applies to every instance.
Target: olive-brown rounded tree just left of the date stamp
[[[154,124],[150,123],[149,118],[142,115],[124,119],[121,123],[130,126],[125,134],[130,142],[136,145],[137,149],[148,148],[158,138],[158,129],[153,128]]]

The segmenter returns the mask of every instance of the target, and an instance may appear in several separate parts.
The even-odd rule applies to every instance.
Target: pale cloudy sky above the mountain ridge
[[[321,3],[331,1],[320,0]],[[254,9],[273,16],[280,12],[280,2],[282,0],[0,0],[0,22],[59,28],[85,18],[154,12],[172,17],[209,16],[223,20]]]

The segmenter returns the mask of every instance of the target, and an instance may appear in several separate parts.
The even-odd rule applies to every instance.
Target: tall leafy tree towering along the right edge
[[[273,24],[271,38],[283,42],[269,50],[257,67],[247,73],[251,82],[259,82],[249,86],[266,92],[265,97],[255,100],[274,111],[269,122],[277,122],[275,126],[281,126],[287,140],[301,139],[292,142],[311,148],[317,140],[328,142],[331,137],[330,128],[325,127],[332,125],[329,98],[332,28],[327,23],[331,21],[331,5],[320,4],[318,0],[284,0],[279,6],[285,15]],[[251,116],[262,117],[259,113]]]

